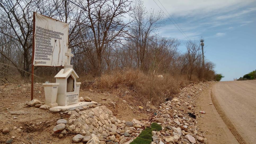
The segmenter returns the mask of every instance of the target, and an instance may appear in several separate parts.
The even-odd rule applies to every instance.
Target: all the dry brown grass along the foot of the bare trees
[[[124,69],[109,71],[97,78],[90,74],[80,74],[77,81],[82,82],[81,89],[91,88],[100,92],[117,92],[120,93],[119,96],[122,96],[125,91],[129,91],[129,95],[133,96],[140,104],[146,105],[150,101],[155,106],[161,104],[165,98],[179,93],[180,88],[189,84],[186,75],[163,74],[164,78],[158,78],[156,75],[158,74],[145,74],[140,70]],[[37,76],[35,82],[55,82],[54,74],[44,77]],[[19,75],[15,75],[14,78],[20,82],[10,78],[11,83],[30,83],[31,80],[30,78],[24,80]],[[192,75],[192,80],[197,81],[198,79]]]

